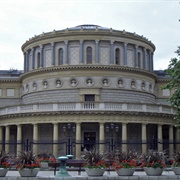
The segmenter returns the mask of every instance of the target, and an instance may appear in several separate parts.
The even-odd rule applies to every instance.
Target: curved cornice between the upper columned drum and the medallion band
[[[115,65],[63,65],[63,66],[55,66],[55,67],[47,67],[47,68],[41,68],[41,69],[35,69],[32,71],[29,71],[27,73],[24,73],[20,76],[21,80],[24,80],[25,78],[28,78],[30,76],[33,75],[37,75],[37,74],[42,74],[45,72],[57,72],[59,70],[64,70],[64,71],[70,71],[70,70],[120,70],[120,71],[124,71],[124,72],[138,72],[139,74],[148,76],[153,78],[154,80],[157,80],[157,75],[149,72],[149,71],[145,71],[139,68],[131,68],[131,67],[127,67],[127,66],[115,66]]]

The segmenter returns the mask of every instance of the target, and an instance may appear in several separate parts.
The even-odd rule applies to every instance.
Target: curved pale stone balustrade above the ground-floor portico
[[[8,106],[0,108],[0,115],[49,112],[49,111],[133,111],[175,114],[175,110],[168,105],[144,103],[113,103],[113,102],[84,102],[84,103],[37,103]]]

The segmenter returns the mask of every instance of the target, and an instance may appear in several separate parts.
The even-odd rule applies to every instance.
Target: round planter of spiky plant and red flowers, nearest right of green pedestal
[[[103,176],[107,163],[104,154],[93,148],[92,150],[84,150],[82,159],[86,162],[83,164],[88,176]]]

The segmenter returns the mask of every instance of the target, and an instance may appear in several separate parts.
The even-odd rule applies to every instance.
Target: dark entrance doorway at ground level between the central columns
[[[96,143],[96,132],[84,132],[84,148],[88,151],[93,149]]]

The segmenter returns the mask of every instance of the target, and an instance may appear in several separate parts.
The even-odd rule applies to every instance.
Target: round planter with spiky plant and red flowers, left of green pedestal
[[[17,168],[22,177],[35,177],[40,164],[37,162],[37,156],[31,151],[21,151],[18,154]]]

